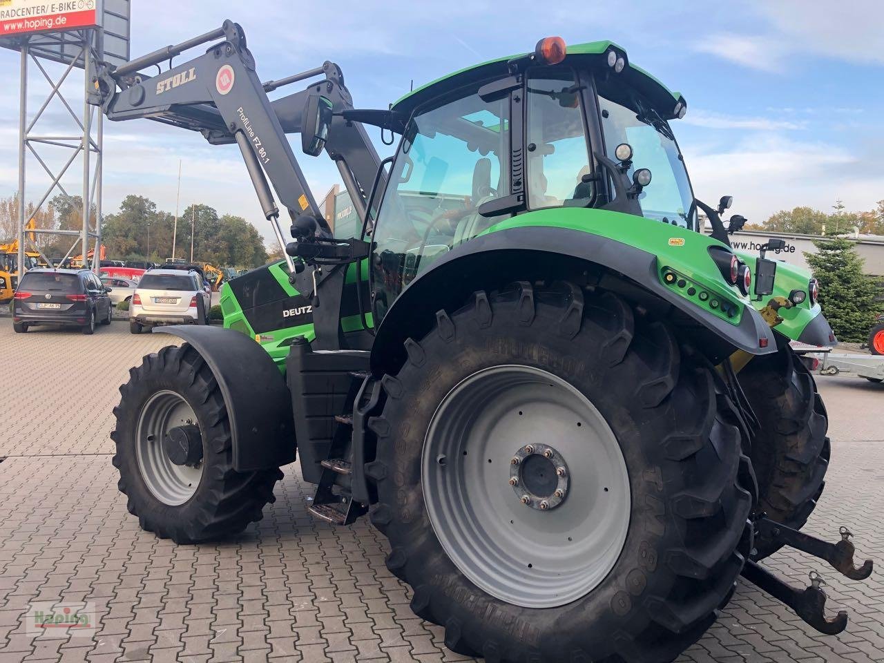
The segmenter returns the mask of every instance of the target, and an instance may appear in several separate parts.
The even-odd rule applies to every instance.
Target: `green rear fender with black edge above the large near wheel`
[[[540,220],[541,212],[524,216],[534,215]],[[626,217],[626,222],[636,224],[645,222],[645,219]],[[459,307],[470,293],[481,287],[501,287],[514,279],[532,276],[548,278],[549,259],[553,264],[560,260],[561,263],[583,267],[592,263],[609,274],[618,275],[617,278],[631,281],[633,286],[639,286],[639,291],[644,290],[644,293],[651,293],[655,298],[671,304],[689,317],[695,326],[705,328],[720,339],[723,346],[732,347],[731,351],[741,349],[750,354],[768,354],[776,350],[773,331],[748,300],[731,291],[705,248],[697,252],[695,247],[694,253],[685,253],[683,258],[675,250],[667,251],[671,238],[676,239],[672,242],[673,248],[683,248],[684,242],[688,241],[701,242],[707,247],[714,240],[655,221],[642,225],[646,225],[646,230],[652,233],[650,237],[645,236],[649,241],[644,241],[642,247],[561,225],[513,226],[510,222],[504,222],[492,226],[484,234],[440,256],[400,293],[377,328],[371,352],[372,370],[385,372],[404,361],[402,344],[409,336],[419,337],[429,331],[439,309],[453,310]],[[633,235],[630,234],[630,237]],[[659,246],[648,246],[655,240]],[[545,254],[549,259],[540,261],[538,254]],[[691,257],[697,256],[701,260],[691,260]],[[545,270],[533,273],[540,263],[546,265]],[[682,287],[664,282],[663,273],[670,269],[685,276]],[[579,274],[580,271],[577,271],[574,276]],[[557,276],[568,278],[568,273]],[[704,306],[704,302],[697,299],[696,289],[695,296],[689,296],[689,284],[705,288],[712,293],[712,299],[718,299],[735,311],[734,315],[722,314],[723,307],[720,305],[714,311],[708,305]],[[705,304],[712,299],[705,301]]]

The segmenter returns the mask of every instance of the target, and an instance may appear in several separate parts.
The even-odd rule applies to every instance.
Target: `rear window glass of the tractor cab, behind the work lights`
[[[598,92],[606,155],[617,161],[614,150],[621,143],[629,143],[633,151],[630,179],[638,168],[651,171],[651,184],[638,196],[645,218],[682,228],[696,228],[691,210],[694,194],[667,121],[637,95],[629,95],[627,99],[623,98],[622,89],[617,93],[607,94],[603,87]]]

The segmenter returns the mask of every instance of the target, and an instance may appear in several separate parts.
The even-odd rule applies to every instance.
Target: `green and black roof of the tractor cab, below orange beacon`
[[[675,104],[681,102],[686,105],[681,93],[673,92],[663,83],[654,78],[650,73],[645,72],[639,66],[629,62],[629,57],[621,46],[614,42],[587,42],[568,46],[566,49],[566,57],[563,65],[595,65],[601,71],[608,69],[606,66],[606,54],[608,50],[615,50],[626,60],[626,66],[619,74],[614,76],[622,77],[624,85],[632,86],[638,89],[657,107],[662,118],[674,119]],[[429,83],[425,83],[419,88],[415,88],[407,95],[403,95],[392,104],[391,110],[406,116],[423,103],[431,101],[438,95],[444,95],[446,92],[460,88],[470,83],[493,78],[495,76],[504,76],[507,74],[507,63],[517,57],[524,57],[528,53],[519,53],[507,57],[499,57],[479,65],[472,65],[461,69],[457,72],[449,73]]]

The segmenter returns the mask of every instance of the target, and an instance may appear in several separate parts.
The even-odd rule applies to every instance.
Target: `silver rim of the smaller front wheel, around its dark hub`
[[[192,498],[202,479],[202,461],[195,468],[175,465],[163,446],[171,429],[187,424],[199,425],[194,409],[178,393],[164,390],[156,392],[141,408],[135,431],[141,478],[154,497],[170,507]]]

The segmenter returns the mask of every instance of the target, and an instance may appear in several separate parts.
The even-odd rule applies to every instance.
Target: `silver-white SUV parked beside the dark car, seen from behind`
[[[150,270],[129,304],[129,331],[139,334],[155,324],[206,324],[210,307],[211,294],[195,271]]]

